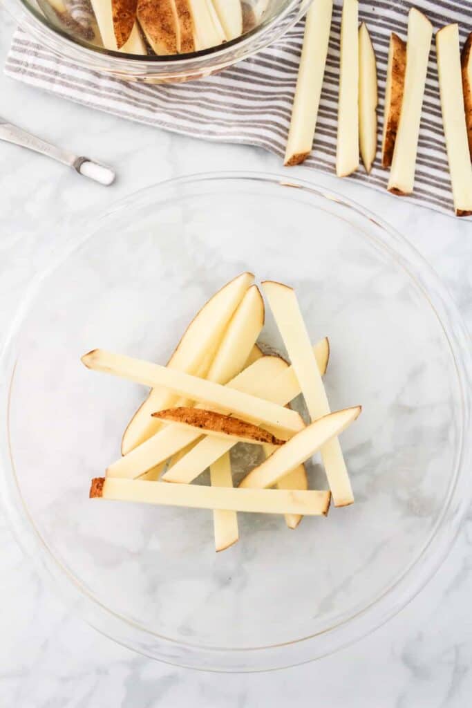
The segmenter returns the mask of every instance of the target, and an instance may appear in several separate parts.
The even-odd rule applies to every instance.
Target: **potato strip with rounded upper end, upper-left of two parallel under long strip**
[[[279,358],[263,357],[238,374],[227,385],[243,392],[258,390],[258,385],[262,387],[273,382],[283,368],[284,364]],[[165,426],[149,440],[135,447],[128,455],[120,457],[116,462],[110,464],[106,474],[107,476],[134,479],[156,464],[165,461],[171,455],[175,455],[175,452],[182,450],[183,447],[190,445],[200,437],[200,432],[194,433],[185,430],[185,428],[177,428],[177,426]]]

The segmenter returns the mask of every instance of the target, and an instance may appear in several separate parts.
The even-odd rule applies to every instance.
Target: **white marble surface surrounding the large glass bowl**
[[[0,60],[13,25],[0,14]],[[218,169],[280,171],[270,154],[197,142],[92,113],[0,76],[1,113],[76,152],[114,164],[113,188],[0,144],[0,326],[67,224],[172,176]],[[380,213],[434,265],[472,328],[472,224],[298,169]],[[335,656],[259,675],[159,665],[72,617],[13,539],[0,510],[0,705],[19,708],[192,706],[464,708],[472,692],[472,510],[442,568],[418,598]]]

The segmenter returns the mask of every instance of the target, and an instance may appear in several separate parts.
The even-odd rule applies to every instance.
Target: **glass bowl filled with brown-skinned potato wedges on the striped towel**
[[[209,76],[282,37],[309,0],[5,0],[41,45],[150,83]]]

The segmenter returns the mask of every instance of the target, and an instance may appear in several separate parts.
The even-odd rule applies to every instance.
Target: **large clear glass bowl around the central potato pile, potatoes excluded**
[[[313,341],[330,337],[332,407],[363,405],[342,438],[356,503],[295,531],[241,514],[215,554],[207,511],[88,499],[145,392],[79,357],[165,362],[242,270],[294,285]],[[262,341],[280,345],[269,314]],[[180,666],[290,666],[378,627],[437,569],[471,498],[471,382],[454,304],[380,219],[277,176],[178,179],[93,219],[21,307],[1,358],[2,489],[27,551],[100,632]],[[317,459],[310,476],[326,487]]]

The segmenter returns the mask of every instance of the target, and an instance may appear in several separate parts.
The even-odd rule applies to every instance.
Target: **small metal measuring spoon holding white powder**
[[[100,164],[88,157],[79,157],[56,145],[32,135],[31,133],[0,118],[0,140],[11,142],[21,147],[26,147],[34,152],[51,157],[64,165],[74,168],[79,174],[89,177],[96,182],[110,185],[115,180],[115,172],[110,167]]]

